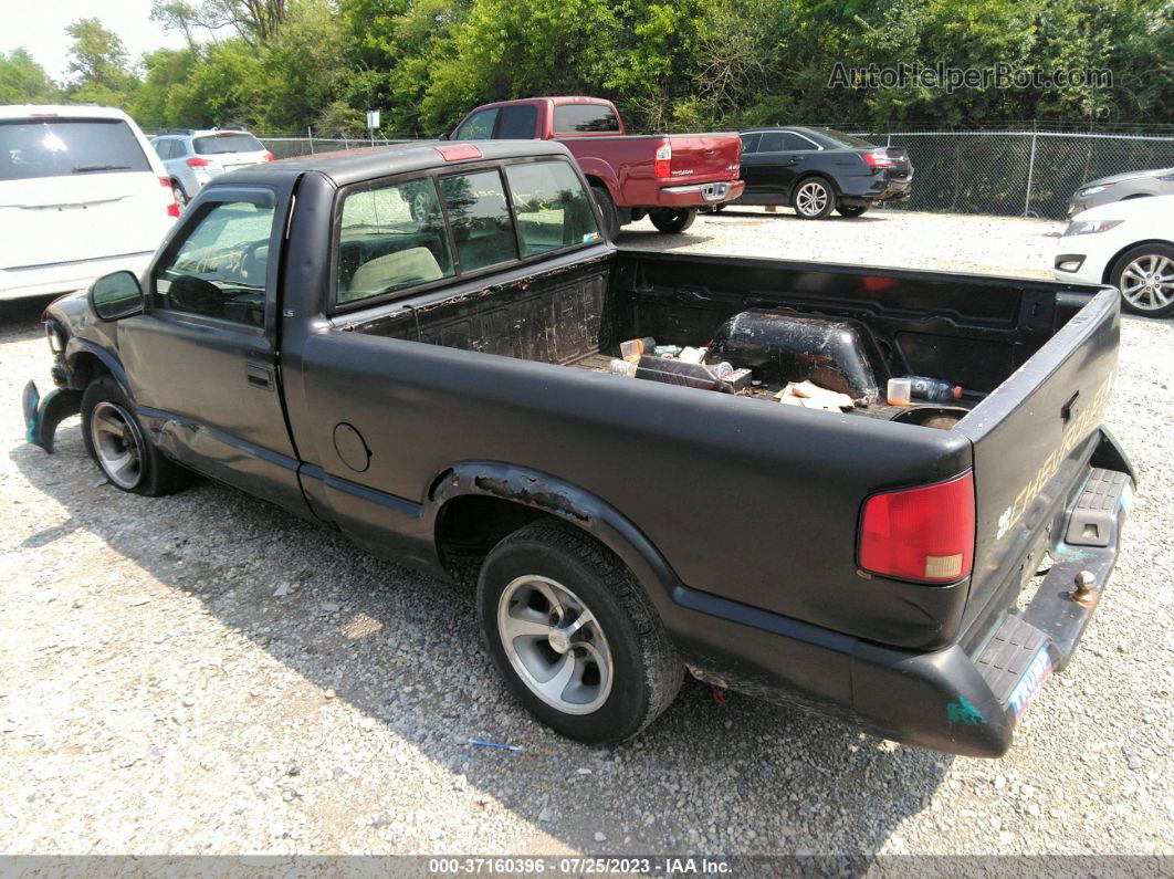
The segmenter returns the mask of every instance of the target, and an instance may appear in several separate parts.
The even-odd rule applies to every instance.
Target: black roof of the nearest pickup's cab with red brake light
[[[466,151],[474,148],[477,155],[467,158],[445,158],[441,150]],[[553,141],[412,141],[383,147],[317,153],[297,158],[283,158],[261,165],[250,165],[216,178],[221,182],[263,183],[275,175],[296,176],[317,173],[329,177],[339,187],[360,183],[394,174],[427,170],[431,168],[458,168],[474,162],[493,162],[504,158],[527,158],[531,156],[565,156],[571,153],[561,143]]]

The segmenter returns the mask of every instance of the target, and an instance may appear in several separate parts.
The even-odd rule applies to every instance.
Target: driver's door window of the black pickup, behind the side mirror
[[[216,203],[155,269],[155,307],[264,326],[272,230],[272,204]]]

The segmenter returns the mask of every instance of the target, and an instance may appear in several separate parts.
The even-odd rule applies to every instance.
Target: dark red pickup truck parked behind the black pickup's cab
[[[742,142],[736,134],[627,135],[601,97],[525,97],[486,103],[451,135],[454,141],[540,140],[566,144],[582,168],[614,238],[648,216],[662,232],[683,232],[697,208],[742,195]]]

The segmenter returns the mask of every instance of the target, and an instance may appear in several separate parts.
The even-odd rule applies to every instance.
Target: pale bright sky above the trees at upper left
[[[104,0],[100,4],[94,0],[5,0],[7,4],[23,6],[25,14],[5,14],[0,50],[23,46],[55,80],[63,79],[66,74],[69,48],[66,25],[77,19],[96,18],[121,36],[131,63],[136,63],[144,52],[161,46],[183,46],[182,34],[168,34],[150,20],[150,0]]]

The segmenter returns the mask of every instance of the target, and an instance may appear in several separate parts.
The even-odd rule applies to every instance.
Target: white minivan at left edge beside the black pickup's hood
[[[0,299],[147,266],[180,216],[143,133],[107,107],[0,107]]]

